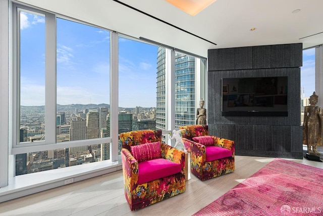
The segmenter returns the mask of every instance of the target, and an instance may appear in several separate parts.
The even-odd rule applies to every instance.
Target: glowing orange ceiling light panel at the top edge
[[[191,16],[195,16],[217,0],[165,0]]]

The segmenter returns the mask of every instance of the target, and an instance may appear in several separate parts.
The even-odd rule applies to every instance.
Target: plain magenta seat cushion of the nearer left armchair
[[[138,184],[177,174],[181,164],[164,158],[142,161],[138,164]]]

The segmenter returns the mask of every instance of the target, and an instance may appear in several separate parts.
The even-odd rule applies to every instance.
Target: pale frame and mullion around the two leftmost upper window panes
[[[43,14],[45,15],[45,134],[44,141],[37,142],[19,142],[20,136],[20,19],[19,12]],[[13,4],[13,41],[14,43],[14,63],[13,63],[13,145],[12,154],[22,154],[36,151],[55,150],[60,148],[70,148],[85,145],[96,145],[101,143],[112,143],[112,138],[97,138],[81,141],[69,141],[64,143],[56,142],[56,115],[57,115],[57,26],[56,19],[63,18],[80,24],[90,25],[88,23],[66,18],[60,15],[48,13],[27,6]],[[101,28],[98,26],[90,25]],[[101,28],[103,29],[103,28]],[[110,31],[108,29],[104,29]],[[111,31],[110,31],[111,32]],[[110,41],[110,47],[111,47]],[[111,49],[110,49],[111,51]],[[111,73],[110,73],[110,76]],[[53,81],[55,80],[55,81]],[[110,88],[110,95],[112,88]],[[110,97],[112,98],[112,97]],[[54,99],[54,100],[53,100]],[[112,100],[112,99],[110,99]]]

